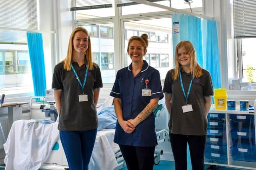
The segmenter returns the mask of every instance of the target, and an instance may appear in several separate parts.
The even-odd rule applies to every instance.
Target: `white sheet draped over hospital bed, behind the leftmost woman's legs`
[[[90,170],[113,170],[118,166],[115,153],[119,147],[113,141],[114,133],[114,129],[97,132]],[[42,124],[33,119],[14,121],[4,144],[6,170],[38,170],[48,161],[48,157],[51,158],[52,147],[58,140],[58,122]]]

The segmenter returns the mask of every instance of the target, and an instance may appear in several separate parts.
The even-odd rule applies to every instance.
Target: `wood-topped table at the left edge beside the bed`
[[[12,127],[12,123],[14,121],[22,119],[22,107],[20,106],[23,104],[28,104],[28,102],[4,103],[2,104],[2,107],[0,107],[0,108],[8,107],[8,132],[10,131]]]

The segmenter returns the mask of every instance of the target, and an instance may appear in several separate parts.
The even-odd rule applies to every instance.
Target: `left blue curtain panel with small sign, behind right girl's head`
[[[183,40],[188,40],[194,45],[197,62],[203,66],[201,19],[186,14],[172,14],[173,55],[176,45]]]

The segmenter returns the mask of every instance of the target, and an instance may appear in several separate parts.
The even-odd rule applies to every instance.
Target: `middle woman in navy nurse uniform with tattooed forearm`
[[[157,145],[152,111],[163,98],[160,74],[142,58],[148,35],[129,39],[127,53],[132,63],[116,74],[110,96],[118,121],[114,142],[120,147],[128,170],[152,170]]]

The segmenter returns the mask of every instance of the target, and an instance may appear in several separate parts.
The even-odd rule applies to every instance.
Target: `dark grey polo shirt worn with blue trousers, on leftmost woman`
[[[72,64],[80,78],[84,82],[86,64],[79,67],[78,63]],[[102,88],[100,68],[94,66],[88,70],[84,94],[88,95],[87,102],[78,102],[78,95],[82,94],[82,88],[76,79],[73,70],[64,70],[64,63],[57,64],[52,78],[52,89],[62,91],[61,110],[58,129],[60,131],[84,131],[98,127],[97,111],[93,100],[93,90]]]

